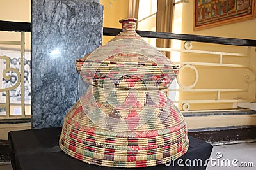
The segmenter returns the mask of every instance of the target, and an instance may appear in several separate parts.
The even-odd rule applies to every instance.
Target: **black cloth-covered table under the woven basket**
[[[9,141],[13,170],[125,170],[124,168],[111,168],[86,164],[70,157],[59,148],[58,139],[60,138],[60,133],[61,127],[10,132]],[[187,164],[189,164],[189,162],[193,163],[193,160],[195,159],[201,159],[204,164],[205,160],[209,159],[211,155],[212,145],[191,136],[189,136],[189,141],[190,145],[188,152],[180,157],[180,159],[184,161],[177,159],[175,161],[175,166],[172,166],[172,164],[170,166],[163,164],[140,168],[138,170],[205,169],[206,166],[185,166],[185,160],[189,159],[190,161],[187,161]],[[177,164],[178,160],[179,164],[184,164],[184,166],[179,166]]]

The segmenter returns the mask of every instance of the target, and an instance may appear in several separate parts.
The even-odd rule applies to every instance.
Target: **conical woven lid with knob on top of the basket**
[[[125,79],[135,81],[132,87],[136,89],[167,88],[175,78],[178,67],[135,32],[134,19],[120,22],[123,32],[84,59],[77,60],[76,67],[84,81],[106,87]],[[152,80],[156,82],[154,86]],[[131,85],[121,83],[118,87],[131,88]]]

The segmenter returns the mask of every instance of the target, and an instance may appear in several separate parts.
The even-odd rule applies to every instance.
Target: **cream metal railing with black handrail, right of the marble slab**
[[[104,35],[106,36],[115,36],[119,32],[121,32],[121,29],[113,29],[113,28],[104,28]],[[252,55],[252,47],[256,46],[256,40],[252,39],[237,39],[237,38],[221,38],[221,37],[212,37],[212,36],[198,36],[198,35],[191,35],[191,34],[172,34],[172,33],[166,33],[166,32],[151,32],[151,31],[136,31],[138,34],[140,34],[141,37],[145,38],[158,38],[158,39],[176,39],[180,41],[184,41],[183,48],[180,49],[174,49],[174,48],[157,48],[160,51],[163,52],[179,52],[182,53],[183,57],[189,57],[189,55],[194,54],[197,57],[200,56],[209,56],[211,57],[218,57],[218,62],[195,62],[193,60],[184,61],[179,60],[177,62],[174,62],[175,64],[179,64],[180,66],[180,73],[184,71],[184,69],[189,68],[192,69],[195,73],[195,81],[191,83],[191,85],[184,85],[182,81],[180,81],[180,76],[178,74],[177,76],[177,88],[175,89],[167,89],[168,92],[194,92],[194,93],[202,93],[202,92],[214,92],[216,93],[216,97],[213,97],[212,99],[179,99],[175,101],[175,103],[180,103],[183,111],[189,111],[190,104],[196,103],[196,104],[204,104],[204,103],[232,103],[234,106],[237,106],[235,103],[244,103],[244,102],[255,102],[255,90],[252,90],[252,88],[256,89],[256,86],[249,86],[252,82],[255,82],[255,76],[256,72],[255,69],[253,69],[252,66],[250,66],[250,60],[252,57],[256,57]],[[193,42],[196,43],[206,43],[209,45],[209,43],[214,45],[223,45],[223,46],[232,46],[233,48],[247,48],[246,52],[239,53],[239,52],[223,52],[223,51],[216,51],[216,50],[194,50],[193,49]],[[181,43],[181,42],[180,42]],[[181,45],[182,46],[182,45]],[[200,46],[200,45],[199,45]],[[204,49],[204,48],[203,48]],[[218,49],[218,48],[216,48]],[[170,55],[172,57],[172,54]],[[224,62],[223,60],[227,59],[228,57],[241,57],[246,60],[246,64],[234,64],[234,63],[228,63]],[[244,80],[241,79],[239,81],[243,81],[246,83],[246,88],[195,88],[200,73],[197,69],[197,67],[207,67],[209,69],[218,69],[218,68],[228,68],[228,69],[247,69],[252,74],[250,76],[245,76]],[[255,66],[256,67],[256,66]],[[253,77],[253,78],[252,78]],[[227,92],[254,92],[253,97],[248,97],[245,99],[237,97],[232,97],[228,99],[227,97],[223,99],[221,96],[222,94],[225,94]],[[232,106],[232,108],[234,108]]]

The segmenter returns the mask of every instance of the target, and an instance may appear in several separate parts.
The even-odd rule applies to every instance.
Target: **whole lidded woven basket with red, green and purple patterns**
[[[109,167],[147,167],[177,159],[189,147],[186,122],[164,89],[179,71],[136,34],[136,20],[76,67],[88,89],[65,116],[60,148]]]

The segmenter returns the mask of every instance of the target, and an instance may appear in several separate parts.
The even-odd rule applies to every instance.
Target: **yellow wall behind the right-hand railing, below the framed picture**
[[[252,20],[245,20],[243,22],[236,22],[218,27],[211,27],[209,29],[202,29],[200,31],[193,31],[194,22],[194,3],[195,1],[188,1],[182,4],[182,34],[196,34],[204,36],[220,36],[226,38],[242,38],[242,39],[256,39],[256,18]],[[194,50],[209,50],[219,52],[237,52],[247,53],[246,47],[230,46],[230,45],[214,45],[211,43],[193,43]],[[256,52],[252,48],[252,57],[250,66],[256,70]],[[198,57],[200,56],[200,57]],[[254,57],[253,57],[254,56]],[[212,55],[198,55],[182,53],[182,61],[193,62],[220,62],[220,57],[212,57]],[[223,57],[223,63],[228,64],[248,64],[246,57]],[[247,83],[244,80],[246,74],[253,76],[247,69],[237,69],[228,67],[205,67],[195,66],[199,72],[199,80],[194,88],[234,88],[246,89]],[[180,80],[185,85],[190,85],[195,80],[195,73],[193,71],[184,72],[180,76]],[[242,99],[255,99],[255,83],[249,85],[249,92],[223,92],[221,99],[233,99],[239,97]],[[180,92],[179,99],[216,99],[217,92]],[[205,104],[191,104],[192,110],[202,109],[225,109],[232,108],[232,103],[205,103]]]

